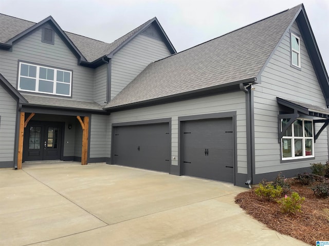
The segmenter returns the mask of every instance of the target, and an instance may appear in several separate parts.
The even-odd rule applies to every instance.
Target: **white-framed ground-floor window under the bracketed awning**
[[[281,120],[283,129],[289,119]],[[282,160],[314,157],[314,131],[312,119],[296,119],[281,139]]]

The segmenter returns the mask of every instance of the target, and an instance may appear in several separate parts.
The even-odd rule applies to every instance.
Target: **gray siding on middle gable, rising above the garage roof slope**
[[[161,40],[139,34],[112,59],[111,98],[114,98],[151,62],[171,55]]]

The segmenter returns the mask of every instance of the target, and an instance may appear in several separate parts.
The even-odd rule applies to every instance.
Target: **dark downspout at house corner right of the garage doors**
[[[240,84],[240,90],[246,94],[246,135],[247,135],[247,181],[245,185],[251,188],[254,166],[253,140],[253,90],[252,83]]]

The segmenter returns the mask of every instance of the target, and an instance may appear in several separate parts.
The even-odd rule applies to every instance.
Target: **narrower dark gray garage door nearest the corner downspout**
[[[185,121],[184,175],[233,182],[232,118]]]

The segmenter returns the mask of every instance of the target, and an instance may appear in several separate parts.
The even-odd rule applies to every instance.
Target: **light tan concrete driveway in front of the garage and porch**
[[[105,164],[0,169],[0,245],[308,245],[234,203],[244,188]]]

